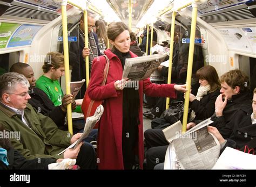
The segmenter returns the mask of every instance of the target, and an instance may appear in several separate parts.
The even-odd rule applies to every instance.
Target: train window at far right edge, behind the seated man
[[[239,69],[249,77],[251,98],[253,90],[256,88],[256,63],[255,58],[239,55]]]

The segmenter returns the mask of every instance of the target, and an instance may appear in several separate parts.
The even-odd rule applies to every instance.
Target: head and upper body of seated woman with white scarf
[[[220,82],[217,71],[212,66],[205,66],[197,71],[200,87],[197,95],[190,93],[192,119],[210,118],[215,110],[215,100],[220,93]]]

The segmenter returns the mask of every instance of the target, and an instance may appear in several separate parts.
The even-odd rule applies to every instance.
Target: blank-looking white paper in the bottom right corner
[[[240,161],[240,162],[238,162]],[[226,147],[212,169],[255,169],[256,155]]]

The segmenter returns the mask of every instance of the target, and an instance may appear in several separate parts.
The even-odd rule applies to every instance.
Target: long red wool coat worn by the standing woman
[[[92,63],[91,79],[88,95],[93,100],[105,100],[104,113],[100,119],[97,145],[97,163],[99,169],[124,169],[122,154],[122,121],[123,121],[123,91],[114,88],[114,82],[122,79],[123,68],[118,57],[110,49],[104,52],[110,60],[109,74],[106,84],[103,82],[103,71],[106,60],[99,56]],[[131,57],[137,57],[130,52]],[[137,153],[140,168],[143,168],[144,144],[143,144],[143,92],[147,96],[175,98],[174,84],[153,84],[149,78],[139,81],[139,139]]]

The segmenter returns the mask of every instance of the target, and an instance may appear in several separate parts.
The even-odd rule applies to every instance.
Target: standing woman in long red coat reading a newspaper
[[[110,66],[106,84],[103,71],[106,60],[103,56],[93,60],[88,95],[93,100],[105,100],[104,113],[98,132],[98,168],[132,169],[134,155],[139,156],[143,168],[143,92],[153,97],[176,97],[175,90],[185,92],[185,85],[153,84],[149,78],[139,81],[138,88],[124,88],[122,79],[125,59],[137,57],[129,51],[129,28],[122,22],[111,23],[107,30],[112,49],[104,53]]]

